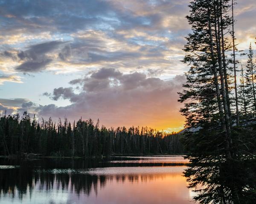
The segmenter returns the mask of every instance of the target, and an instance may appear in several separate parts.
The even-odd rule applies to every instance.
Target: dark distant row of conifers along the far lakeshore
[[[91,119],[38,122],[29,114],[0,117],[0,155],[38,153],[43,156],[108,156],[111,154],[184,153],[180,136],[148,127],[102,126]]]

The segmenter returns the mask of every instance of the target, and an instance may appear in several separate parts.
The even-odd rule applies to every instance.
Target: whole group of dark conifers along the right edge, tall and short
[[[183,139],[190,161],[184,175],[200,204],[256,200],[256,60],[251,45],[246,54],[237,49],[234,6],[233,0],[193,0],[186,17],[192,32],[183,62],[190,68],[180,112],[197,131]],[[246,69],[239,62],[244,57]]]

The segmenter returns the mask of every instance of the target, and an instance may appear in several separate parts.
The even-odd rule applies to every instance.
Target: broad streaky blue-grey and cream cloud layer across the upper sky
[[[145,69],[173,72],[182,69],[182,64],[169,60],[174,52],[169,46],[176,47],[176,51],[183,47],[180,32],[185,34],[188,28],[185,18],[178,16],[185,16],[187,3],[46,0],[44,6],[39,6],[33,1],[25,4],[11,0],[1,3],[6,26],[0,39],[15,49],[18,47],[21,63],[14,70],[20,72],[47,68],[63,73],[92,67],[134,71],[138,64]],[[167,18],[171,20],[166,24]],[[173,26],[176,21],[178,26]],[[51,41],[42,41],[45,37]],[[182,54],[180,51],[180,58]]]

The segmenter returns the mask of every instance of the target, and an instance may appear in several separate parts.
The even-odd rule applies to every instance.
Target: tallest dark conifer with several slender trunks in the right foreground
[[[246,178],[250,175],[245,173],[250,167],[245,166],[250,163],[247,158],[253,159],[250,153],[254,144],[250,143],[252,146],[247,146],[244,153],[243,145],[252,139],[253,132],[232,125],[232,86],[228,79],[233,76],[227,67],[232,62],[236,69],[237,62],[235,46],[229,45],[224,33],[233,26],[233,16],[229,16],[233,1],[193,0],[189,7],[187,20],[192,33],[186,38],[183,62],[190,69],[179,101],[184,104],[180,111],[186,117],[186,127],[194,127],[195,132],[188,131],[184,136],[190,161],[184,174],[190,187],[204,186],[195,197],[201,204],[244,203],[247,191],[243,189],[250,183]],[[227,51],[232,50],[233,61],[226,60]],[[236,105],[237,125],[238,110]]]

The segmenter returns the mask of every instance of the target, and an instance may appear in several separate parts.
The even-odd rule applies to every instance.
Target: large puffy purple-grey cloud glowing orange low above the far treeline
[[[178,110],[177,92],[185,82],[183,75],[164,81],[146,77],[143,73],[125,74],[113,68],[102,68],[77,79],[81,91],[73,88],[55,88],[54,100],[69,99],[71,105],[58,107],[50,104],[37,108],[38,114],[68,119],[99,118],[107,127],[117,125],[148,125],[155,128],[180,127],[183,117]],[[49,94],[46,94],[49,95]],[[172,108],[170,108],[172,107]]]

